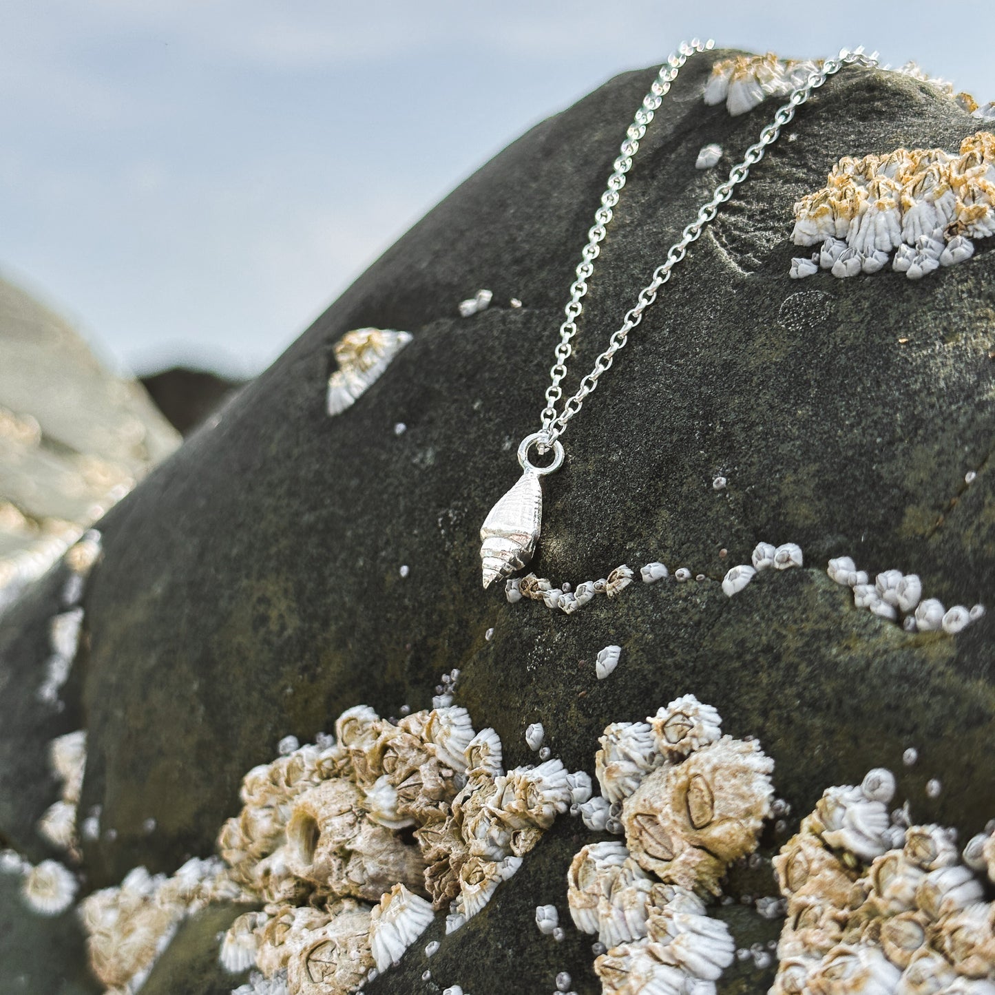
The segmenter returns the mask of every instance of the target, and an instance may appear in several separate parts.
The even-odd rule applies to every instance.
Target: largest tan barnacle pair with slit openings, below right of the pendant
[[[632,855],[665,882],[717,894],[725,866],[756,848],[773,767],[755,740],[723,736],[654,771],[623,806]]]

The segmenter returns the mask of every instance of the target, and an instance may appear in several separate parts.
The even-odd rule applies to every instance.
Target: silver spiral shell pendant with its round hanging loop
[[[546,442],[544,432],[535,432],[522,440],[518,447],[518,463],[524,471],[514,486],[501,497],[481,526],[481,559],[484,566],[484,586],[490,587],[498,578],[520,570],[532,558],[542,524],[542,486],[539,478],[559,470],[563,463],[560,442]],[[528,450],[536,444],[553,451],[548,467],[534,467],[528,461]]]

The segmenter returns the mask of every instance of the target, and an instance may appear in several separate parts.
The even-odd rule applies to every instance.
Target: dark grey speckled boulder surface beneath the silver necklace
[[[580,319],[574,384],[773,112],[705,107],[713,58],[689,64],[642,143]],[[453,667],[457,703],[476,728],[497,729],[509,766],[529,762],[524,729],[541,721],[553,755],[593,774],[608,722],[694,694],[718,708],[723,731],[760,739],[796,816],[874,766],[896,771],[916,819],[963,839],[995,815],[995,767],[982,760],[995,748],[995,615],[953,637],[906,633],[855,609],[825,572],[850,555],[872,578],[919,574],[946,605],[991,600],[995,253],[979,242],[972,260],[920,282],[788,278],[794,202],[840,156],[956,148],[978,130],[926,84],[849,69],[809,100],[570,423],[532,569],[576,584],[623,562],[638,578],[659,560],[672,579],[637,579],[569,616],[481,590],[480,525],[537,428],[567,287],[651,80],[619,77],[497,156],[104,519],[71,710],[89,730],[82,807],[102,805],[116,836],[85,845],[88,887],[211,853],[243,774],[282,736],[311,740],[359,702],[383,715],[426,707]],[[696,169],[708,143],[725,155]],[[461,317],[459,301],[480,288],[494,302]],[[329,418],[332,345],[367,325],[414,338]],[[761,540],[798,543],[805,566],[764,571],[726,597],[726,570]],[[681,566],[704,579],[675,582]],[[47,739],[78,727],[38,731],[17,710],[40,662],[11,656],[38,643],[43,594],[0,634],[0,835],[29,854],[55,796],[15,797],[14,786],[33,783],[31,764],[44,769],[34,754]],[[598,681],[609,644],[621,660]],[[908,746],[918,761],[906,768]],[[439,916],[366,990],[552,991],[566,970],[577,992],[598,991],[591,937],[570,927],[558,943],[534,924],[545,903],[567,920],[567,867],[597,838],[561,817],[479,916],[448,937]],[[770,832],[762,850],[777,845]],[[769,864],[735,870],[726,892],[775,895]],[[779,931],[739,904],[716,914],[743,946]],[[197,921],[184,927],[191,949]],[[432,939],[442,946],[427,960]],[[181,952],[168,961],[173,991],[234,987],[220,968],[210,979],[199,954],[188,983]],[[737,962],[720,990],[764,990],[772,976]]]

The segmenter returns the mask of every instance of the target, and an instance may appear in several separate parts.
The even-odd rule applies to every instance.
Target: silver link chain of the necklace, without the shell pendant
[[[749,175],[750,166],[759,162],[768,145],[775,142],[784,127],[795,116],[795,111],[818,90],[831,76],[839,73],[844,66],[857,63],[861,66],[875,67],[878,60],[875,56],[866,56],[863,48],[853,52],[843,49],[836,59],[828,59],[823,65],[813,71],[800,87],[791,93],[787,103],[777,109],[773,120],[760,131],[760,139],[746,149],[742,162],[733,166],[728,179],[715,187],[711,199],[698,209],[697,218],[681,233],[681,238],[667,250],[667,259],[653,271],[653,279],[639,292],[636,303],[626,312],[622,325],[609,338],[608,348],[594,362],[594,368],[581,381],[577,393],[563,405],[563,410],[557,412],[556,405],[563,396],[560,382],[566,375],[566,361],[573,352],[570,340],[577,333],[577,318],[583,310],[582,298],[587,294],[587,281],[594,273],[594,261],[600,253],[599,244],[605,237],[606,226],[612,220],[612,209],[618,204],[619,191],[625,185],[626,173],[632,168],[632,159],[639,150],[639,143],[646,134],[647,125],[653,120],[653,115],[659,109],[664,96],[671,89],[671,84],[677,79],[684,64],[699,52],[710,50],[714,42],[699,42],[693,39],[691,44],[684,42],[677,53],[667,60],[657,79],[653,81],[650,92],[643,102],[632,124],[626,130],[625,141],[622,142],[620,155],[612,164],[612,174],[608,177],[608,187],[601,195],[601,206],[594,213],[594,226],[587,233],[587,245],[581,252],[581,262],[577,267],[577,279],[570,287],[570,300],[564,308],[566,320],[560,325],[560,340],[555,349],[556,362],[549,370],[552,380],[546,389],[546,406],[542,409],[542,432],[538,437],[536,447],[545,452],[561,436],[566,424],[580,411],[587,396],[598,386],[602,373],[611,368],[615,353],[623,348],[629,337],[629,332],[643,320],[643,313],[657,299],[660,288],[671,279],[671,271],[687,255],[688,246],[701,234],[704,227],[718,214],[719,205],[724,204],[732,196],[732,191]]]

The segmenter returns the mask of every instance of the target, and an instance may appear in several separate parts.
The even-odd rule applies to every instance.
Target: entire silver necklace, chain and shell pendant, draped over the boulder
[[[664,284],[671,279],[671,271],[685,258],[688,246],[714,219],[719,206],[732,196],[735,187],[749,175],[750,166],[763,158],[767,146],[777,140],[781,128],[791,121],[797,108],[808,100],[815,90],[831,76],[839,73],[844,66],[853,63],[867,67],[878,65],[877,59],[874,56],[864,55],[863,49],[855,49],[853,52],[844,49],[836,59],[828,59],[820,68],[814,70],[808,79],[791,93],[787,102],[777,109],[770,123],[761,129],[759,140],[746,149],[742,162],[732,167],[728,179],[715,187],[711,199],[698,209],[697,218],[684,229],[681,238],[667,250],[667,258],[653,271],[650,283],[639,292],[636,303],[626,312],[620,327],[612,332],[608,339],[608,347],[595,360],[593,369],[581,379],[577,392],[564,401],[562,407],[557,410],[557,405],[563,397],[560,384],[566,376],[566,362],[573,351],[570,341],[577,333],[577,318],[583,310],[581,301],[587,294],[587,281],[594,273],[594,261],[600,252],[599,244],[604,239],[606,228],[612,220],[612,211],[618,204],[619,192],[625,185],[626,173],[632,168],[632,160],[639,151],[639,143],[681,68],[692,56],[710,50],[713,45],[712,41],[702,43],[697,39],[691,44],[682,43],[677,53],[661,67],[649,93],[636,111],[633,122],[626,129],[620,154],[612,164],[612,174],[608,177],[607,188],[601,195],[601,206],[594,212],[594,225],[587,233],[587,244],[581,251],[581,261],[575,271],[577,279],[570,287],[570,300],[564,308],[566,319],[559,328],[560,340],[554,351],[556,362],[549,370],[551,382],[546,388],[546,406],[539,416],[542,428],[521,440],[518,446],[521,477],[497,501],[481,527],[483,542],[481,559],[485,587],[490,586],[498,578],[507,577],[515,570],[520,570],[532,558],[542,524],[541,478],[554,473],[563,465],[564,453],[563,444],[559,441],[560,436],[566,431],[570,419],[578,414],[588,395],[597,388],[602,374],[611,369],[615,353],[625,347],[629,332],[643,320],[643,313],[657,299],[657,294]],[[544,466],[533,464],[529,458],[533,450],[540,458],[551,452],[550,461]]]

